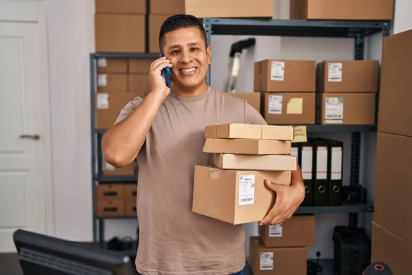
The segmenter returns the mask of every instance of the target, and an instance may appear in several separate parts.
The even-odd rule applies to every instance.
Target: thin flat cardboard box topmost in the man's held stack
[[[260,124],[214,124],[205,126],[205,138],[255,139],[255,140],[293,140],[293,126]]]

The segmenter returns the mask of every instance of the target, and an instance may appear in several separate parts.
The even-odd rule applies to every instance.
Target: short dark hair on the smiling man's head
[[[179,30],[181,28],[191,27],[198,28],[198,30],[201,31],[201,35],[203,36],[203,40],[205,41],[205,47],[207,47],[206,32],[205,28],[203,28],[202,21],[190,14],[175,14],[171,17],[168,17],[168,19],[166,19],[161,25],[159,33],[160,52],[163,53],[163,47],[165,45],[165,34],[174,30]]]

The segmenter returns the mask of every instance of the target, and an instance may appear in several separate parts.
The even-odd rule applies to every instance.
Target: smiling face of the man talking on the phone
[[[200,87],[210,63],[210,46],[205,47],[201,30],[181,28],[165,34],[164,55],[173,67],[172,85],[177,89]]]

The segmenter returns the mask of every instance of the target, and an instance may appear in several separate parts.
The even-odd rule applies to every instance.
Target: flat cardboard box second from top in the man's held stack
[[[207,138],[203,152],[246,155],[290,155],[292,142],[289,140],[246,140]]]

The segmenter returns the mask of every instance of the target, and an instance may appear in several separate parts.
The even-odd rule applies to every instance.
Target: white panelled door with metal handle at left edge
[[[0,252],[18,228],[46,232],[38,37],[38,23],[0,21]]]

